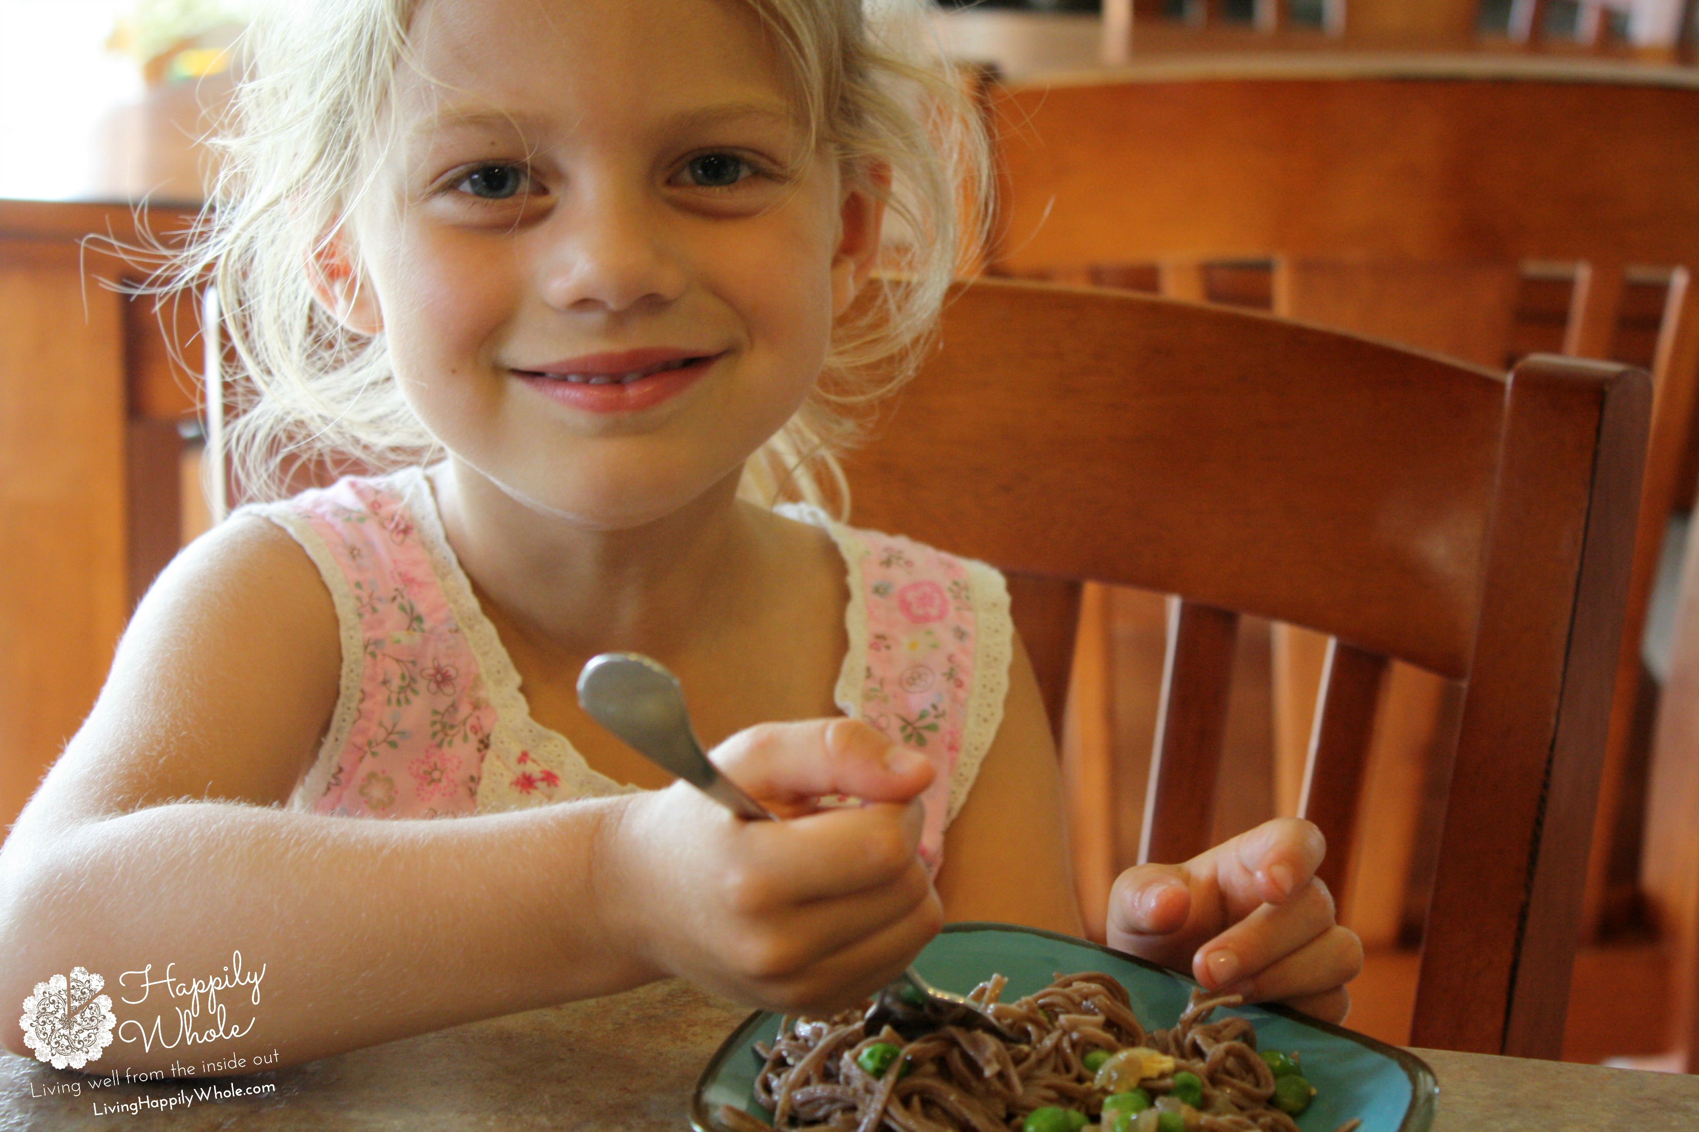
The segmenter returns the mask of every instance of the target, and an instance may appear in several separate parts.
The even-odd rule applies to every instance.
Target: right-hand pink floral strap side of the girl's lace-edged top
[[[894,742],[929,755],[928,840],[967,801],[1002,723],[1014,625],[1002,574],[904,535],[856,528],[807,504],[787,518],[831,533],[844,558],[850,606],[838,706]],[[936,825],[936,828],[933,828]]]

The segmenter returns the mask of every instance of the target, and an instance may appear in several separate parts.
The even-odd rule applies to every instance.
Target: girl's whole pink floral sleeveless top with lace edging
[[[437,818],[635,789],[593,771],[564,737],[530,718],[423,472],[347,477],[253,509],[318,563],[343,642],[336,716],[291,804]],[[826,528],[844,557],[850,650],[838,708],[936,767],[921,838],[921,857],[936,871],[945,827],[1001,721],[1011,638],[1002,577],[814,507],[780,511]]]

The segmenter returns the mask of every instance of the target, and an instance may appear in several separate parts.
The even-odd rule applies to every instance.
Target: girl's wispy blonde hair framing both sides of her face
[[[401,397],[384,334],[348,331],[314,297],[308,265],[369,188],[374,146],[408,27],[423,0],[274,3],[246,36],[246,73],[221,136],[209,209],[175,258],[175,285],[217,290],[240,365],[229,460],[246,497],[277,497],[291,470],[389,470],[440,455]],[[748,462],[741,494],[848,511],[838,453],[860,409],[917,368],[957,270],[984,241],[991,177],[968,83],[916,51],[914,0],[741,0],[778,42],[814,146],[877,193],[904,238],[838,321],[824,372]],[[902,8],[911,8],[904,12]],[[819,151],[810,148],[810,151]]]

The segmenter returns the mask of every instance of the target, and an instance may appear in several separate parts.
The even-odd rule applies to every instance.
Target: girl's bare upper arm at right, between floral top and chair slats
[[[1062,771],[1019,633],[1002,725],[945,833],[938,894],[946,920],[999,920],[1086,935],[1069,867]]]

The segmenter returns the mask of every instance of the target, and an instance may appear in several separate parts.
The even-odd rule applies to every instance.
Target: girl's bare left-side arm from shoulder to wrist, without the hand
[[[630,986],[642,964],[593,913],[612,804],[454,821],[285,811],[336,701],[336,614],[282,530],[197,541],[136,611],[105,689],[0,850],[0,1001],[73,966],[105,978],[119,1037],[95,1068],[195,1054],[282,1062]],[[263,978],[224,991],[229,1030],[187,1045],[189,996],[143,978]],[[562,955],[574,962],[562,964]],[[131,976],[144,971],[150,976]],[[206,996],[195,1032],[216,1025]],[[5,1045],[22,1030],[5,1027]]]

